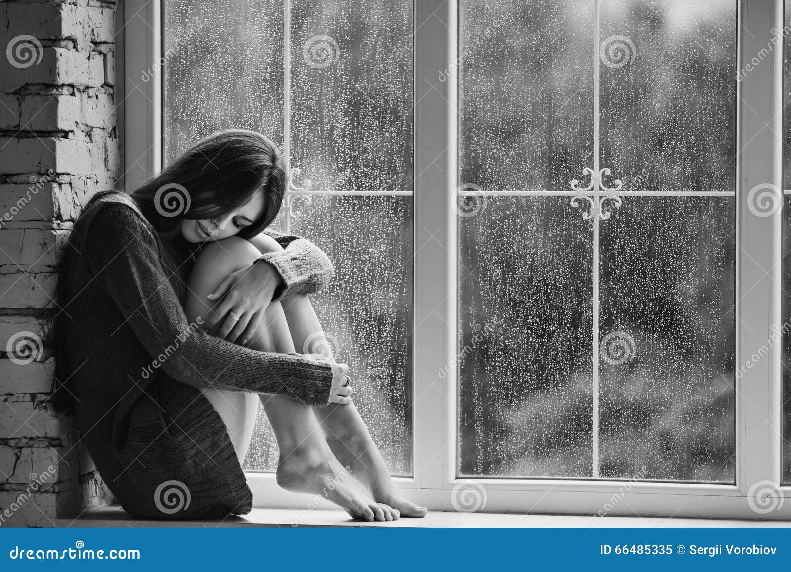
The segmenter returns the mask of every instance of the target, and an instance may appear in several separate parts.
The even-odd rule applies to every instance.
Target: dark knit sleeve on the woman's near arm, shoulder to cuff
[[[131,206],[104,203],[90,221],[82,256],[113,298],[152,361],[170,377],[196,388],[278,393],[326,405],[332,368],[303,354],[268,353],[230,343],[187,323],[161,265],[157,238]]]

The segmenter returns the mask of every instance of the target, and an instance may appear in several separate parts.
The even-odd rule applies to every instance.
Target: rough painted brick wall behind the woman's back
[[[73,420],[46,403],[51,360],[30,358],[47,343],[59,244],[120,175],[115,9],[0,2],[0,526],[49,526],[110,499]]]

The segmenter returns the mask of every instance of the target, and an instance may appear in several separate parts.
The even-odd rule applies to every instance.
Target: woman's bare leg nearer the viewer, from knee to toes
[[[207,302],[206,294],[214,290],[225,276],[248,266],[259,254],[252,244],[236,237],[207,244],[190,277],[187,317],[190,320],[198,316],[207,317],[216,302]],[[273,302],[266,317],[262,331],[248,343],[248,347],[263,351],[293,351],[282,305]],[[218,392],[223,400],[229,397],[233,400],[234,393],[239,392]],[[324,441],[310,407],[277,395],[260,394],[259,397],[278,441],[280,460],[277,477],[281,487],[320,494],[355,518],[385,521],[399,517],[397,511],[375,502],[354,479],[346,479],[346,471]],[[233,426],[238,422],[239,414],[233,412],[233,407],[224,407],[220,402],[218,412],[229,415],[229,419],[223,418],[226,425]]]

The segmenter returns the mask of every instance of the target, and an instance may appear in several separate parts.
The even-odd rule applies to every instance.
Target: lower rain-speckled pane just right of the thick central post
[[[590,476],[588,223],[567,197],[490,196],[460,241],[460,474]]]

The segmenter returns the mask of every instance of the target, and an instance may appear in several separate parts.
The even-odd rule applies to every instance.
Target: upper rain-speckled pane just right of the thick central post
[[[463,0],[461,183],[568,191],[592,165],[592,5]]]

